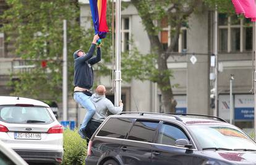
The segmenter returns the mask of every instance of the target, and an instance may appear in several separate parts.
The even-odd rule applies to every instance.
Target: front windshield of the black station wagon
[[[222,125],[189,125],[189,127],[203,149],[256,150],[255,142],[234,127]]]

